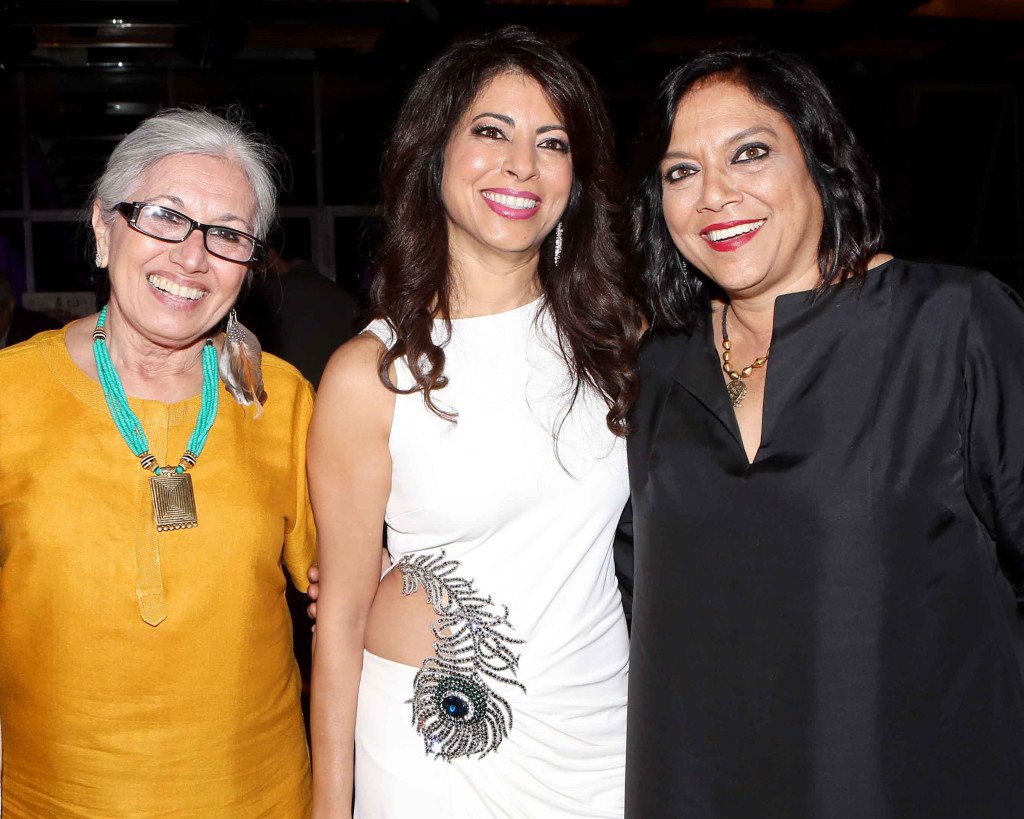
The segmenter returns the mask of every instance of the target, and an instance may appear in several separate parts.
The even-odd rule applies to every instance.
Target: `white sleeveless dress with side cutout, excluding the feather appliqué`
[[[398,395],[390,437],[395,570],[403,559],[436,565],[443,552],[457,561],[450,579],[492,598],[499,620],[508,608],[497,633],[523,641],[505,643],[518,655],[505,676],[522,688],[486,683],[511,729],[482,757],[436,756],[441,743],[414,725],[420,670],[365,652],[358,819],[623,815],[629,647],[611,544],[629,494],[626,447],[592,391],[566,415],[571,381],[544,306],[453,320],[446,341],[436,322],[449,386],[434,400],[458,421],[429,412],[420,393]],[[385,322],[368,330],[393,343]],[[406,363],[396,367],[398,386],[410,386]]]

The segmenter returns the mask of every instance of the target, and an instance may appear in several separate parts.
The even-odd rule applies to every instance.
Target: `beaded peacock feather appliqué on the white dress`
[[[422,588],[437,613],[434,656],[423,661],[413,682],[413,727],[428,755],[446,762],[477,759],[496,750],[512,730],[512,708],[489,681],[526,688],[515,679],[519,656],[511,646],[508,606],[482,597],[471,580],[455,574],[459,561],[444,553],[406,555],[398,561],[403,596]]]

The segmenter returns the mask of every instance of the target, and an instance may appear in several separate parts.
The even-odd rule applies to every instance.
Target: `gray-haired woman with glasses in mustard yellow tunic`
[[[143,122],[91,201],[109,303],[0,353],[5,817],[308,814],[312,392],[231,311],[275,187],[240,122]]]

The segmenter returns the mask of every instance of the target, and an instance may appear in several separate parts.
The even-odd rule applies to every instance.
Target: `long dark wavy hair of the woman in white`
[[[612,229],[618,178],[611,126],[594,78],[565,51],[528,29],[509,26],[458,43],[417,79],[398,114],[383,159],[380,254],[370,297],[375,316],[397,337],[381,357],[381,381],[393,392],[423,392],[444,418],[433,390],[447,384],[435,318],[451,333],[452,281],[447,222],[441,200],[444,148],[470,103],[506,72],[544,89],[568,131],[572,186],[562,215],[563,246],[554,263],[554,231],[541,247],[539,275],[558,343],[574,377],[574,397],[587,384],[608,404],[607,423],[627,434],[636,398],[639,300],[630,289]],[[401,390],[389,368],[404,356],[415,385]],[[571,404],[570,404],[571,405]]]

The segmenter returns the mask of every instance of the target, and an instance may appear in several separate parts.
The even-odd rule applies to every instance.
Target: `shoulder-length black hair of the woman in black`
[[[680,100],[701,82],[726,80],[774,109],[800,140],[821,198],[818,292],[863,275],[882,245],[879,177],[824,83],[803,59],[761,47],[715,48],[675,69],[662,83],[631,171],[629,246],[632,278],[644,292],[651,324],[692,326],[715,288],[672,242],[662,204],[660,163]]]

